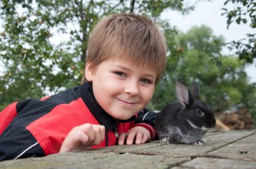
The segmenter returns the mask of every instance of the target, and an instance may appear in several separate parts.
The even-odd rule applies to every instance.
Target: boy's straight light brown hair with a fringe
[[[156,70],[156,82],[166,65],[166,41],[146,15],[117,13],[103,17],[90,34],[86,62],[95,69],[109,58],[131,60],[135,66]],[[81,83],[86,82],[84,74]]]

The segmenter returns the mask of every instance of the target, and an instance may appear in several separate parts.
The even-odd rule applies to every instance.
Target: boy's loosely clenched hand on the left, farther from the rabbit
[[[104,140],[104,137],[104,125],[92,125],[90,123],[79,125],[71,129],[61,145],[61,150],[59,150],[59,152],[86,150],[90,148],[90,146],[100,144],[100,142]]]

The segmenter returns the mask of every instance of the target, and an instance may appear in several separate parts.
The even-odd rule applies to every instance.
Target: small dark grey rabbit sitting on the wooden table
[[[204,135],[216,125],[216,119],[212,109],[199,99],[199,84],[193,82],[190,93],[188,87],[177,82],[176,95],[179,102],[166,105],[156,116],[156,131],[160,142],[205,143]]]

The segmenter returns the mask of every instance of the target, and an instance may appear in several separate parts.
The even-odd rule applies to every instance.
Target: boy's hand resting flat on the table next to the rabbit
[[[129,129],[127,133],[121,133],[121,135],[119,135],[118,144],[123,145],[125,139],[126,144],[133,144],[133,142],[135,142],[135,144],[144,144],[151,139],[150,131],[144,127],[136,126]]]

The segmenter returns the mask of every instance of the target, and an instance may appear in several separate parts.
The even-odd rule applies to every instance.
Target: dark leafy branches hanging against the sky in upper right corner
[[[228,10],[222,8],[226,15],[228,27],[231,23],[246,24],[249,23],[250,27],[256,29],[256,2],[254,0],[227,0],[224,6],[234,4],[234,9]],[[245,42],[247,41],[247,42]],[[235,49],[236,54],[241,59],[247,60],[252,63],[253,58],[256,58],[256,34],[247,34],[247,40],[238,40],[229,43],[230,50]]]

